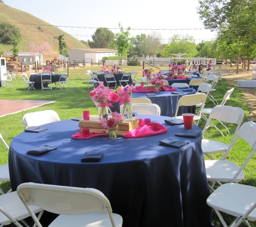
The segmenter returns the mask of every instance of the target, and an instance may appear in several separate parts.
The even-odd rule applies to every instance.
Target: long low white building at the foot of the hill
[[[80,48],[68,51],[69,61],[85,61],[85,62],[99,62],[104,56],[116,56],[116,49],[106,48]],[[64,56],[59,54],[59,59],[64,60]],[[66,59],[67,60],[67,59]]]

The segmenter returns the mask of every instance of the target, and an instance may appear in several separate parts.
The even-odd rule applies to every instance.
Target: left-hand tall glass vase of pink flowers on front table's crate
[[[98,102],[99,117],[108,116],[108,107],[113,107],[109,102],[117,102],[118,95],[108,87],[99,82],[99,86],[90,91],[89,95],[95,102]]]

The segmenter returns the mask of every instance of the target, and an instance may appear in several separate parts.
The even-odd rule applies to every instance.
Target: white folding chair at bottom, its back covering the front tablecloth
[[[60,214],[50,226],[122,226],[122,217],[112,212],[108,198],[94,188],[23,183],[18,186],[17,194],[38,227],[42,225],[31,205]]]

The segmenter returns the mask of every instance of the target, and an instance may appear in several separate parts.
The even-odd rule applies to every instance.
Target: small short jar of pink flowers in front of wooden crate
[[[100,121],[104,129],[108,129],[108,136],[110,139],[117,138],[118,124],[123,121],[123,115],[118,115],[117,112],[112,112],[111,117],[101,117]]]

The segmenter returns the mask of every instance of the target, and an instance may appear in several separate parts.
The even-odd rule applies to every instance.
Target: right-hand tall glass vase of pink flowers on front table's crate
[[[119,87],[116,90],[116,94],[119,97],[120,114],[123,115],[124,119],[132,119],[132,103],[130,98],[133,95],[133,84],[127,85],[126,87]]]

